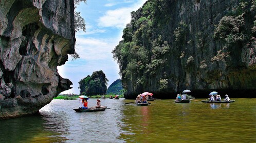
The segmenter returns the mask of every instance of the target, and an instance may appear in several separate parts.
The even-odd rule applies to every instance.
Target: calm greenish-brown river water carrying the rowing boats
[[[256,142],[256,99],[232,100],[140,107],[106,99],[102,105],[117,110],[84,113],[73,110],[78,100],[53,100],[39,115],[0,121],[0,142]]]

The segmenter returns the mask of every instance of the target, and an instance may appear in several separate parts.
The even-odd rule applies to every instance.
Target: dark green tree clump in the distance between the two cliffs
[[[107,82],[105,74],[102,70],[94,71],[92,76],[80,80],[79,89],[80,94],[87,96],[104,95],[107,91]]]

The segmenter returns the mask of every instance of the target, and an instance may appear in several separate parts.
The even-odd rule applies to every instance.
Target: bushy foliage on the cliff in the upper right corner
[[[247,65],[253,64],[255,59],[252,57],[255,57],[256,54],[251,54],[251,51],[255,49],[253,37],[256,36],[256,20],[252,20],[252,17],[256,18],[255,10],[255,1],[242,0],[239,6],[233,8],[220,20],[214,30],[213,37],[224,41],[225,44],[211,61],[225,61],[229,54],[234,53],[234,47],[239,47],[240,49],[244,48],[244,51],[249,53]]]

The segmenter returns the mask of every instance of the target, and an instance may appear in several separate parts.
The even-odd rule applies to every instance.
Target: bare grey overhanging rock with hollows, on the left
[[[74,46],[74,1],[0,1],[0,118],[38,112],[70,89],[57,66]]]

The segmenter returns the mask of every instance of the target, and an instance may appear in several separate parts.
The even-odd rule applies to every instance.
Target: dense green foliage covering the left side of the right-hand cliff
[[[149,87],[149,78],[160,81],[164,77],[164,66],[171,52],[170,43],[160,34],[155,34],[153,26],[160,26],[170,21],[166,15],[172,0],[147,1],[140,11],[132,12],[132,20],[123,30],[123,40],[112,51],[117,60],[123,88],[132,86],[136,91],[144,91]],[[159,90],[165,90],[160,89]]]

